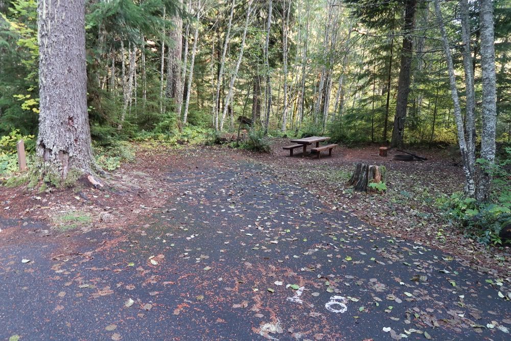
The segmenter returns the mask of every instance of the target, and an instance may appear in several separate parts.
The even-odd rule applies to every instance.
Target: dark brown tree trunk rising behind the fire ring
[[[410,71],[413,55],[413,28],[415,21],[415,8],[417,0],[407,0],[405,7],[405,23],[403,25],[403,48],[401,50],[401,65],[399,70],[398,96],[396,100],[396,115],[392,129],[391,147],[403,144],[405,130],[406,108],[408,106],[408,94],[410,93]]]

